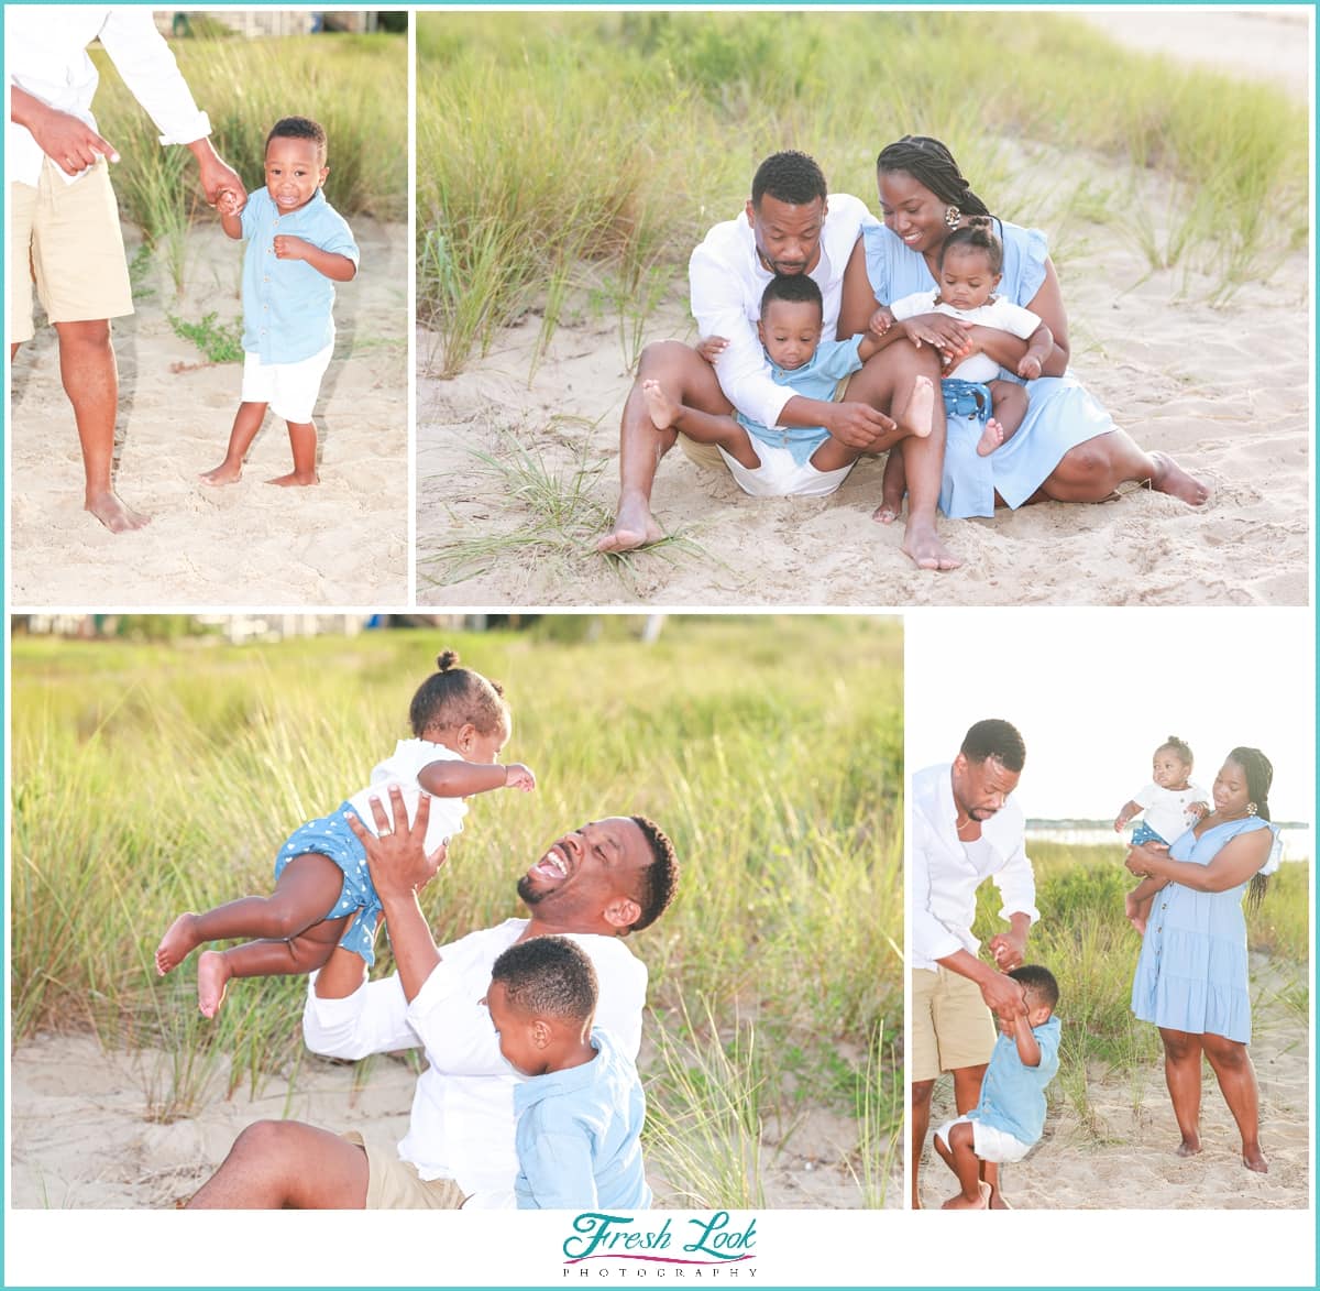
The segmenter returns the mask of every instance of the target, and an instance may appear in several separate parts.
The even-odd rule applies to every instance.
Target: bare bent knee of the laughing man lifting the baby
[[[358,1144],[300,1121],[257,1121],[187,1208],[360,1210],[367,1183],[367,1154]]]

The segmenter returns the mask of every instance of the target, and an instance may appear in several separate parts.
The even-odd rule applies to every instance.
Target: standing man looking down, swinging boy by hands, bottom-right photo
[[[1026,1012],[1023,991],[1007,974],[1020,968],[1027,931],[1039,919],[1036,882],[1023,847],[1024,820],[1008,796],[1027,752],[1022,735],[998,718],[977,722],[952,766],[912,778],[912,1208],[920,1209],[921,1148],[931,1123],[931,1093],[953,1073],[962,1115],[981,1097],[981,1077],[994,1049],[991,1011],[1006,1020]],[[977,888],[993,878],[1008,932],[989,946],[994,965],[977,957],[972,933]],[[983,1166],[990,1205],[1006,1209],[998,1167]]]

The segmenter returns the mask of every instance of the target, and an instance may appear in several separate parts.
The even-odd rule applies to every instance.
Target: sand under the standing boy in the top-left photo
[[[267,416],[238,484],[199,473],[224,455],[239,364],[209,366],[168,315],[240,313],[242,252],[216,224],[187,244],[186,292],[160,268],[114,325],[120,371],[120,496],[152,523],[112,535],[82,511],[82,459],[59,385],[54,331],[13,367],[11,597],[16,609],[379,606],[408,601],[408,238],[355,220],[362,272],[338,288],[335,358],[321,388],[321,484],[275,488],[288,432]],[[132,236],[125,230],[125,238]],[[129,244],[129,255],[133,253]]]

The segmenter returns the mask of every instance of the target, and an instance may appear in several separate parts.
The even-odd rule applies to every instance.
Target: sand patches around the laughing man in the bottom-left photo
[[[228,1065],[220,1060],[190,1114],[162,1122],[170,1072],[168,1053],[106,1052],[87,1035],[44,1034],[20,1044],[9,1065],[13,1207],[174,1208],[223,1160],[239,1130],[261,1118],[397,1142],[408,1129],[414,1085],[399,1059],[376,1059],[355,1084],[351,1065],[309,1056],[294,1092],[286,1078],[271,1077],[256,1097],[244,1082],[226,1098]],[[857,1126],[846,1117],[809,1110],[791,1126],[767,1127],[763,1142],[770,1208],[862,1204],[853,1175]],[[657,1205],[685,1205],[653,1171],[649,1179]],[[895,1177],[887,1205],[900,1205],[902,1191]]]

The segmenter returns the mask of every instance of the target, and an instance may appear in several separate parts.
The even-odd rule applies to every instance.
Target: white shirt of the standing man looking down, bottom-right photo
[[[1036,910],[1036,879],[1024,846],[1026,820],[1011,799],[981,822],[983,859],[974,862],[958,841],[958,809],[953,801],[953,767],[944,763],[912,776],[912,968],[936,969],[937,960],[981,943],[972,935],[977,888],[993,878],[1003,908],[1001,919]]]

